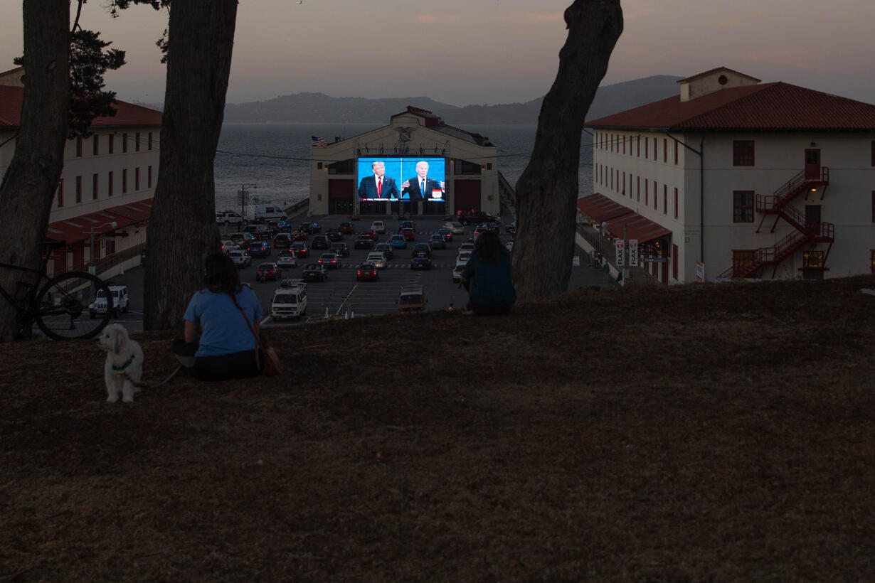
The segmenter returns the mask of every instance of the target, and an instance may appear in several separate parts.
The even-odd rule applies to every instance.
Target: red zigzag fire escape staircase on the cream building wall
[[[812,189],[828,184],[830,184],[830,169],[822,166],[816,176],[812,176],[806,170],[802,170],[802,172],[782,185],[781,188],[774,191],[774,194],[758,194],[756,209],[757,212],[763,215],[763,218],[760,220],[760,226],[757,227],[757,233],[760,233],[763,222],[765,222],[768,215],[774,215],[775,218],[770,229],[771,233],[774,233],[774,228],[777,226],[779,219],[786,220],[795,228],[795,232],[788,234],[787,237],[779,240],[774,246],[760,247],[759,249],[752,250],[752,253],[743,259],[733,259],[732,267],[723,274],[720,274],[720,277],[755,277],[761,273],[764,267],[774,267],[772,272],[774,277],[781,261],[792,256],[803,246],[816,243],[827,243],[829,245],[823,256],[823,263],[825,264],[826,259],[830,256],[832,243],[835,240],[835,226],[832,223],[823,221],[809,223],[802,212],[788,205],[788,203],[802,194],[802,192],[805,192],[806,196],[808,196],[808,192]],[[826,189],[823,189],[821,193],[822,200],[825,191]]]

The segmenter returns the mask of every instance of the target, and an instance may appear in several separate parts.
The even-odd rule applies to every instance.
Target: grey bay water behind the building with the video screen
[[[310,196],[311,135],[332,142],[359,135],[383,124],[364,123],[226,123],[214,163],[216,209],[240,212],[242,186],[250,204],[291,205]],[[499,170],[510,184],[528,165],[535,145],[535,126],[466,125],[466,131],[489,136],[499,149]],[[581,139],[579,184],[588,194],[592,184],[591,136]]]

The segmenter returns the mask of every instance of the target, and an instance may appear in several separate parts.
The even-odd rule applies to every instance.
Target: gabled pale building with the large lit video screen
[[[311,151],[311,214],[389,215],[399,209],[440,215],[472,209],[499,212],[498,149],[488,137],[448,126],[424,109],[408,107],[393,115],[388,126],[322,143],[314,140]],[[385,161],[387,176],[396,172],[400,186],[414,175],[416,161],[426,159],[432,161],[430,177],[445,184],[440,198],[402,207],[388,200],[360,199],[359,187],[363,178],[372,176],[372,161]],[[443,174],[432,176],[439,166]]]

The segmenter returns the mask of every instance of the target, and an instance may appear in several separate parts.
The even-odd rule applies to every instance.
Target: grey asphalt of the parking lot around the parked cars
[[[325,233],[325,230],[336,228],[345,219],[345,217],[340,216],[314,218],[322,226],[322,233]],[[395,232],[399,221],[397,219],[380,219],[386,223],[387,233],[382,234],[379,240],[385,241],[391,233]],[[295,219],[290,222],[297,225],[301,220],[303,219]],[[437,232],[437,229],[445,222],[443,217],[416,217],[415,221],[415,242],[427,241],[430,233]],[[504,222],[509,222],[509,219],[502,221],[502,223]],[[369,229],[370,225],[371,218],[362,218],[353,222],[357,233]],[[464,308],[465,302],[467,302],[467,292],[464,288],[459,288],[458,283],[452,282],[452,267],[456,264],[458,246],[472,236],[473,230],[474,226],[465,227],[465,234],[454,235],[453,239],[447,243],[446,249],[434,250],[430,270],[411,270],[409,268],[412,243],[408,243],[407,249],[395,249],[394,258],[388,261],[385,269],[380,270],[377,281],[356,281],[356,267],[365,260],[370,250],[353,249],[353,240],[356,235],[347,234],[344,240],[350,248],[349,257],[341,259],[339,268],[327,271],[326,281],[307,283],[307,312],[301,321],[274,322],[268,316],[262,325],[270,327],[320,322],[325,318],[326,313],[329,317],[393,314],[397,312],[395,302],[401,289],[415,285],[423,286],[428,300],[427,310],[447,309],[450,305],[453,305],[454,308]],[[506,242],[510,239],[510,235],[503,232],[503,225],[501,231],[501,240]],[[233,227],[223,234],[227,235],[232,232]],[[311,239],[312,236],[307,239],[308,244]],[[300,278],[304,265],[315,263],[321,253],[324,252],[311,249],[309,257],[297,260],[297,267],[283,269],[283,278]],[[269,258],[253,259],[251,266],[241,269],[242,281],[248,283],[255,290],[255,294],[262,302],[265,314],[268,315],[274,291],[279,287],[279,281],[266,281],[264,283],[256,281],[255,270],[259,264],[265,261],[275,261],[278,255],[279,251],[274,249]],[[584,260],[581,267],[571,269],[569,289],[598,285],[602,282],[603,276],[600,270],[585,266]],[[130,312],[119,316],[119,321],[132,332],[143,330],[143,273],[144,270],[137,267],[126,274],[113,278],[113,281],[127,285],[130,290]]]

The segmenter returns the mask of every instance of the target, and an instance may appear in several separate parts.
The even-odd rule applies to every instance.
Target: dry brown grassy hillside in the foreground
[[[0,581],[871,580],[875,278],[271,330],[109,404],[0,345]],[[137,335],[145,379],[171,331]]]

